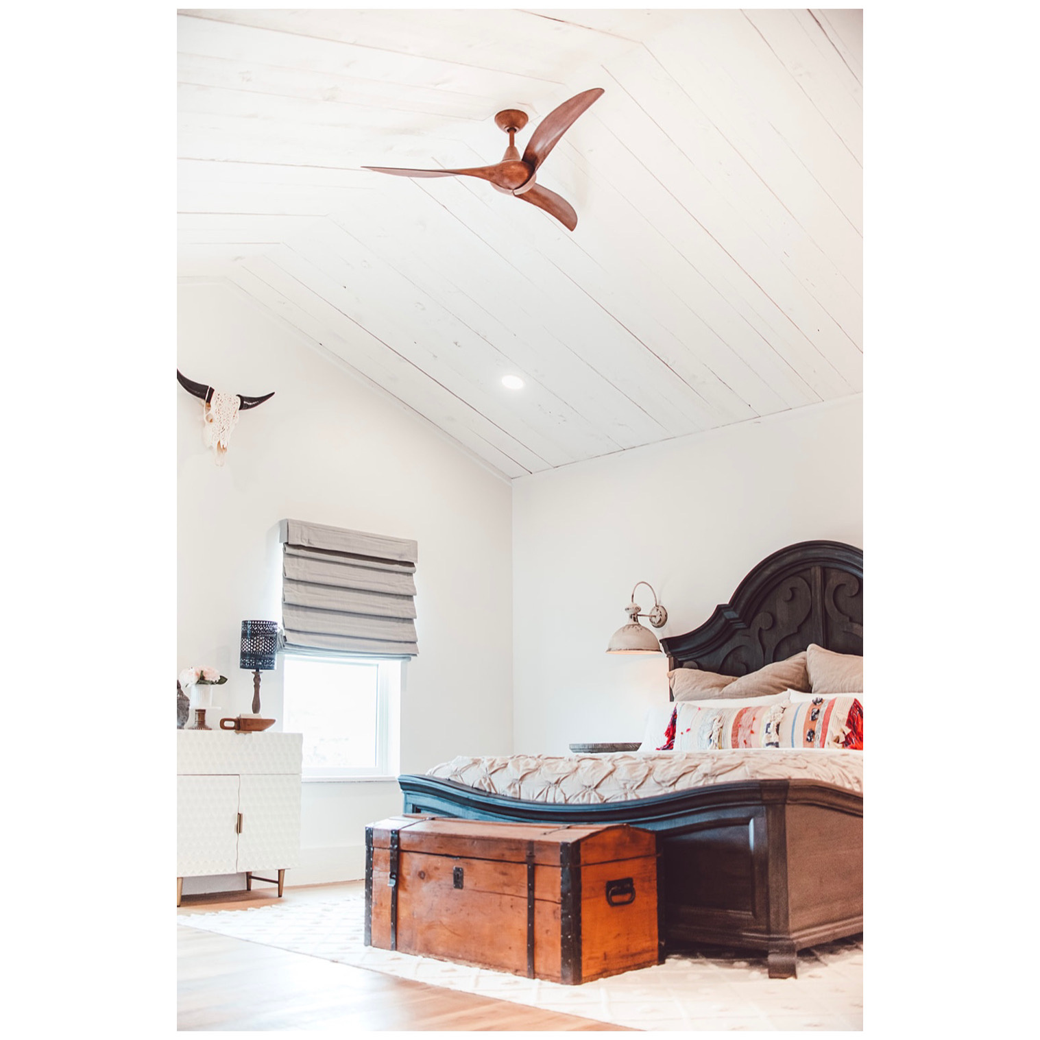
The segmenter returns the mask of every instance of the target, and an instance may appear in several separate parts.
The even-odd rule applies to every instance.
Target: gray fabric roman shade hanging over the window
[[[293,653],[412,657],[415,542],[283,520],[282,627]]]

